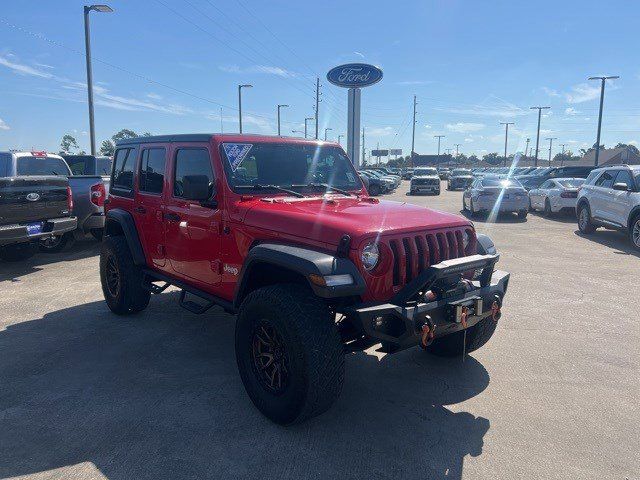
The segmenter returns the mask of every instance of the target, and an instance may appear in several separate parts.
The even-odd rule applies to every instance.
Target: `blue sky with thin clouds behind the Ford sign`
[[[0,12],[0,149],[57,151],[65,133],[88,149],[83,2],[4,2]],[[640,140],[640,3],[272,0],[112,0],[93,13],[98,145],[121,128],[154,134],[237,130],[237,84],[245,132],[302,130],[323,84],[321,136],[346,130],[346,90],[325,80],[333,66],[376,64],[384,79],[362,92],[367,147],[482,155],[535,142],[533,105],[552,109],[541,138],[568,149],[595,142],[599,85],[608,84],[603,142]],[[343,143],[344,140],[343,140]],[[541,142],[546,156],[548,142]]]

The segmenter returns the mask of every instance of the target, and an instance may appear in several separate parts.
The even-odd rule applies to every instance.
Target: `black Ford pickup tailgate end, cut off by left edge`
[[[64,163],[64,162],[62,162]],[[37,244],[74,230],[69,180],[56,158],[40,152],[0,152],[0,258],[19,261]]]

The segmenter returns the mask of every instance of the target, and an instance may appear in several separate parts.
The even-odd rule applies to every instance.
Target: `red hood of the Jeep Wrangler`
[[[241,202],[238,206],[246,208],[242,221],[247,226],[336,246],[347,234],[354,248],[378,234],[470,225],[459,215],[368,197],[274,197]]]

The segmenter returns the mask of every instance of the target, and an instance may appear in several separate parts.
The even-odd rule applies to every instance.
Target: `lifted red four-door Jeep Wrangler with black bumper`
[[[254,135],[118,143],[100,256],[109,308],[237,314],[240,376],[281,424],[327,410],[344,354],[464,355],[489,340],[509,274],[457,215],[367,195],[338,144]]]

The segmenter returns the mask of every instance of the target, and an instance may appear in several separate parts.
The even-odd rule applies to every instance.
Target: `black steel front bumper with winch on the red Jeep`
[[[494,302],[502,305],[509,273],[494,270],[498,259],[497,254],[472,255],[441,262],[408,283],[389,303],[356,306],[350,313],[361,333],[382,343],[387,352],[420,344],[425,325],[430,340],[464,330],[492,316]],[[477,272],[477,279],[463,280],[468,271]],[[427,300],[425,292],[436,296]]]

